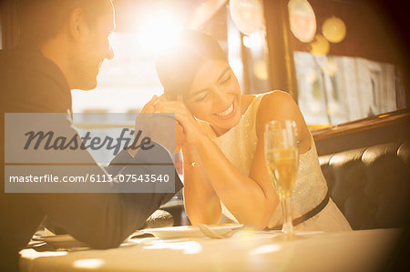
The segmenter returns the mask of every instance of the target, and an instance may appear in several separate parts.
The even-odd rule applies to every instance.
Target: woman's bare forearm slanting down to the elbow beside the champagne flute
[[[241,224],[266,227],[278,203],[269,180],[264,182],[243,175],[209,136],[198,141],[195,148],[210,185],[231,214]]]

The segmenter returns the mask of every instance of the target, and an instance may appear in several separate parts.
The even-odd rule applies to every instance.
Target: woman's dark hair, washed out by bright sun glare
[[[159,52],[156,60],[159,81],[171,99],[178,95],[186,98],[194,76],[207,60],[227,60],[218,41],[210,35],[185,30],[179,41],[178,45]]]

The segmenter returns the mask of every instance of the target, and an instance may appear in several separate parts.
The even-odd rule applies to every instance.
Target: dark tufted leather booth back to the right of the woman
[[[410,140],[320,156],[329,194],[354,229],[405,227]]]

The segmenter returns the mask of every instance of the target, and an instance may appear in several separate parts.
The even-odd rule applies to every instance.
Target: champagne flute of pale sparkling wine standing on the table
[[[299,164],[296,123],[292,120],[268,122],[264,140],[268,173],[282,206],[282,233],[285,238],[292,239],[291,196]]]

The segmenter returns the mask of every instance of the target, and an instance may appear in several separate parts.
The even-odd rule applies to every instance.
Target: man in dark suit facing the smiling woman
[[[114,9],[109,0],[21,2],[20,45],[13,50],[0,52],[3,113],[0,178],[3,182],[4,113],[71,112],[70,90],[95,88],[102,62],[114,56],[108,42],[108,35],[115,27]],[[69,122],[61,126],[71,129]],[[161,143],[160,137],[155,134],[150,136]],[[147,163],[152,156],[159,154],[161,159],[171,163],[168,151],[154,144],[155,148],[149,152],[122,151],[113,160],[119,166],[109,166],[109,174],[115,176],[119,171],[133,173],[135,167],[128,168],[127,164]],[[78,153],[78,156],[87,158],[89,172],[106,174],[86,151]],[[152,170],[147,167],[140,171],[155,174],[150,173]],[[175,176],[175,192],[178,192],[181,183],[178,175]],[[45,215],[90,247],[118,247],[172,196],[169,193],[5,194],[2,189],[0,239],[3,250],[0,270],[16,269],[18,250],[26,246]]]

